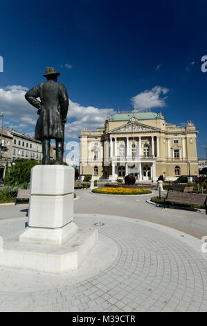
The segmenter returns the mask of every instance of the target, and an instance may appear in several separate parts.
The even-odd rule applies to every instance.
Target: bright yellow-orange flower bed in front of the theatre
[[[133,188],[98,188],[93,189],[92,192],[96,194],[107,194],[107,195],[147,195],[152,194],[152,191],[146,189],[133,189]]]

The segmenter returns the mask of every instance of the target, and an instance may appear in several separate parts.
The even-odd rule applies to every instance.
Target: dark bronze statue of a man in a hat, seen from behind
[[[56,162],[63,164],[64,123],[69,108],[69,96],[64,85],[57,83],[60,73],[46,67],[43,75],[47,81],[30,89],[26,100],[35,108],[39,119],[35,128],[35,139],[42,141],[42,164],[50,164],[51,139],[56,141]],[[40,98],[40,102],[37,100]]]

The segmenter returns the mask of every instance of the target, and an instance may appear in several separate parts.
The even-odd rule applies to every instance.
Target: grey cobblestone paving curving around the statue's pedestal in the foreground
[[[0,235],[9,237],[25,221],[0,221]],[[76,214],[75,222],[80,228],[105,223],[98,232],[116,243],[114,261],[75,284],[70,273],[15,270],[22,282],[31,274],[42,282],[41,289],[31,284],[22,291],[12,280],[14,270],[0,268],[6,280],[0,285],[0,311],[207,311],[207,259],[198,239],[134,218]],[[53,280],[49,288],[44,277]]]

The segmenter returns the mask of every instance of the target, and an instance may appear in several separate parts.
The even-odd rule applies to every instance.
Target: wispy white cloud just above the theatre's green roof
[[[151,90],[146,89],[145,92],[132,97],[131,101],[136,109],[163,108],[166,106],[165,100],[168,96],[161,98],[161,95],[165,95],[168,92],[168,88],[155,86]]]

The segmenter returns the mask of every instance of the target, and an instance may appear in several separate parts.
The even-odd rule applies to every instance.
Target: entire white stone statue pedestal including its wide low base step
[[[31,173],[28,228],[0,251],[0,266],[46,273],[78,268],[98,240],[94,229],[73,221],[74,169],[35,166]],[[22,225],[24,228],[24,225]]]

